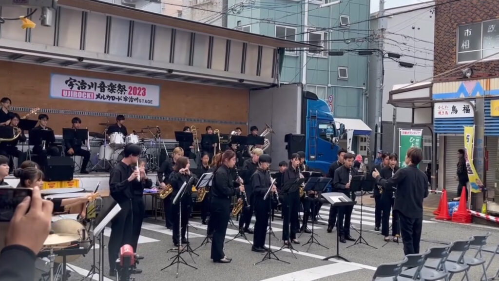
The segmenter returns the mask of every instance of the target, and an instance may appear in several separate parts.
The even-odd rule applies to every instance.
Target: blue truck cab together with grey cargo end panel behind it
[[[311,168],[326,173],[336,161],[344,125],[334,121],[326,101],[302,90],[301,83],[250,90],[248,113],[250,126],[272,127],[273,133],[265,135],[270,140],[265,153],[272,157],[272,169],[288,159],[288,152],[296,152],[295,147],[286,145],[287,134],[299,140],[299,150],[305,151]]]

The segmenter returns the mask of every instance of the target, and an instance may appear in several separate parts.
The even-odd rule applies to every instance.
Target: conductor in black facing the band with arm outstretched
[[[421,228],[423,226],[423,199],[428,196],[428,177],[418,169],[423,159],[419,147],[407,150],[407,167],[399,169],[389,179],[381,178],[379,171],[373,171],[373,177],[384,188],[397,186],[394,211],[399,213],[400,234],[404,243],[404,253],[419,253]]]

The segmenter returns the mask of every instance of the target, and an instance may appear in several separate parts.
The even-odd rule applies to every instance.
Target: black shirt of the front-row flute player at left
[[[133,168],[122,161],[118,162],[109,174],[109,189],[111,197],[118,203],[133,198],[132,182],[128,177],[133,173]],[[132,180],[136,181],[136,180]]]

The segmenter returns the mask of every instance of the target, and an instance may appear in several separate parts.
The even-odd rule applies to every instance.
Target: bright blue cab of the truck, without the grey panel
[[[337,160],[338,139],[344,134],[344,125],[334,121],[327,103],[310,91],[303,92],[302,128],[305,134],[307,165],[327,173],[329,165]]]

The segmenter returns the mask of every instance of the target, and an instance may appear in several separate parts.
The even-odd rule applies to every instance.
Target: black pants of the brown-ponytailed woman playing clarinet
[[[213,197],[210,207],[210,225],[213,231],[211,258],[214,261],[225,257],[224,240],[231,214],[231,199]]]

